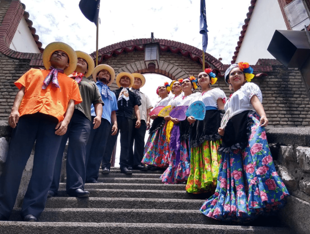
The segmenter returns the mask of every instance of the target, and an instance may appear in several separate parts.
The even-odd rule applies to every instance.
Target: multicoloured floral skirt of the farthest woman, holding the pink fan
[[[142,163],[160,168],[168,167],[170,149],[166,142],[166,124],[149,135]]]

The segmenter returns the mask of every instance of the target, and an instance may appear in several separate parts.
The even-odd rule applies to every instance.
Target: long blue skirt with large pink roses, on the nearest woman
[[[283,207],[289,196],[274,167],[259,116],[254,113],[249,117],[252,121],[247,147],[222,153],[215,194],[200,209],[208,217],[250,221]]]

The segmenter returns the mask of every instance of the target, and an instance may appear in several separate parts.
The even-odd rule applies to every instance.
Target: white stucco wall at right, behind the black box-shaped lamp
[[[255,65],[258,59],[274,59],[267,51],[275,30],[287,30],[277,0],[257,0],[236,62]]]

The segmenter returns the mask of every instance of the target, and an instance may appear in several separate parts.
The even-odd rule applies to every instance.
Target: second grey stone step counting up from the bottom
[[[19,208],[13,210],[10,220],[21,221]],[[83,223],[223,224],[223,222],[206,217],[199,210],[106,208],[46,208],[40,215],[38,221]]]

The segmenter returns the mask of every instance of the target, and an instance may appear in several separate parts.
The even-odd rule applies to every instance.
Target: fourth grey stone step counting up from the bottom
[[[90,197],[111,198],[174,198],[174,199],[201,199],[196,194],[187,193],[185,190],[135,190],[135,189],[87,189]],[[57,197],[67,197],[65,190],[59,190]],[[203,195],[204,199],[209,196]]]

